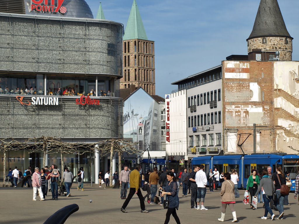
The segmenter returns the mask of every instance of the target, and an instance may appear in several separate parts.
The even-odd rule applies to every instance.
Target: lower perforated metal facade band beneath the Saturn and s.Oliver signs
[[[31,101],[25,96],[22,102]],[[49,97],[49,96],[43,96]],[[22,105],[16,95],[0,95],[0,138],[122,138],[123,100],[93,97],[100,105],[76,105],[79,97],[59,97],[59,105]],[[74,140],[76,141],[76,140]]]

